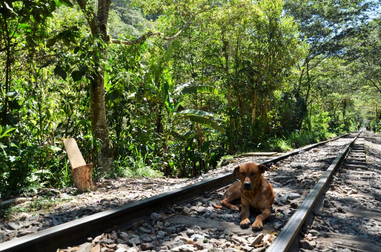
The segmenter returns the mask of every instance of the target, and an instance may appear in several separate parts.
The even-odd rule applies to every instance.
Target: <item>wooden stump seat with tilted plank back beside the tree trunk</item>
[[[64,138],[63,145],[65,146],[72,169],[74,187],[78,189],[78,192],[85,192],[88,189],[92,190],[92,164],[86,164],[74,138]]]

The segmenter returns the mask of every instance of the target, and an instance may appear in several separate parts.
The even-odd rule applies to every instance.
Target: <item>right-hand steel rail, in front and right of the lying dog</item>
[[[360,132],[361,133],[361,132]],[[330,181],[332,175],[340,166],[343,158],[348,153],[350,148],[353,146],[354,142],[360,135],[360,133],[354,138],[354,140],[347,145],[343,151],[335,158],[332,164],[328,167],[323,176],[319,179],[316,185],[312,188],[311,192],[303,200],[303,203],[298,207],[292,217],[289,219],[287,224],[282,228],[279,235],[266,249],[266,252],[285,252],[288,251],[290,246],[293,244],[297,234],[299,233],[301,227],[306,221],[308,214],[314,207],[317,199],[325,190],[328,182]]]

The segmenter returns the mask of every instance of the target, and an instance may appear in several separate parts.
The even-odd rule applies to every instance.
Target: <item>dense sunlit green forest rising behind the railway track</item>
[[[0,3],[0,197],[380,127],[376,0]]]

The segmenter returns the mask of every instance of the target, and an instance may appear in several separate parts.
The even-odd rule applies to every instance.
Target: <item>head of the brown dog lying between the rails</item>
[[[233,175],[239,175],[242,190],[254,190],[261,183],[262,173],[273,171],[263,164],[244,163],[234,168]]]

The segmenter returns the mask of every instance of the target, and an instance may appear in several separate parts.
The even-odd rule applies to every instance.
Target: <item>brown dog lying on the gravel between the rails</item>
[[[271,205],[274,203],[274,191],[271,184],[262,176],[265,171],[273,171],[263,164],[245,163],[235,167],[233,176],[239,174],[240,181],[231,185],[223,196],[219,205],[213,204],[215,208],[226,207],[233,211],[239,208],[232,203],[241,199],[242,213],[240,226],[242,228],[250,225],[250,208],[261,211],[252,224],[253,230],[263,228],[263,221],[271,216]]]

